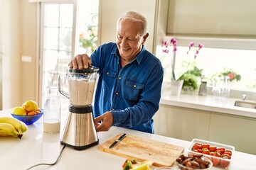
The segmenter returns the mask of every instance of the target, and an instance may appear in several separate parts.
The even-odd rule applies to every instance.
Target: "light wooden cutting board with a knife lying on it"
[[[124,140],[110,149],[110,145],[121,135],[102,143],[98,149],[127,159],[136,159],[139,162],[149,160],[154,162],[154,166],[171,166],[174,163],[174,158],[184,151],[183,147],[128,134]]]

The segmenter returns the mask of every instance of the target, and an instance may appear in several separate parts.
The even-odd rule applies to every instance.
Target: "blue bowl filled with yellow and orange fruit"
[[[26,101],[22,106],[12,108],[11,115],[26,125],[31,125],[42,117],[43,109],[38,108],[36,101]]]

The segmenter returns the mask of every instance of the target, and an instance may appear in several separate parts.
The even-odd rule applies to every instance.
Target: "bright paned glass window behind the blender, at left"
[[[97,46],[98,6],[95,0],[41,3],[42,103],[46,86],[58,86],[58,77],[67,72],[72,57],[85,52],[90,55],[92,51],[86,50]],[[92,35],[92,40],[82,45],[80,37],[85,34]],[[67,84],[63,89],[68,89]]]

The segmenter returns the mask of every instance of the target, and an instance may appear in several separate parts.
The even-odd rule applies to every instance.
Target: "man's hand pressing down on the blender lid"
[[[92,64],[88,55],[77,55],[71,60],[69,66],[73,69],[87,69]]]

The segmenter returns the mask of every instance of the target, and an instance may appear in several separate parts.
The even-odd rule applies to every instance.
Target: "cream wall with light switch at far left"
[[[1,0],[3,109],[36,100],[35,8],[27,0]],[[21,62],[22,55],[31,56],[32,62]]]

